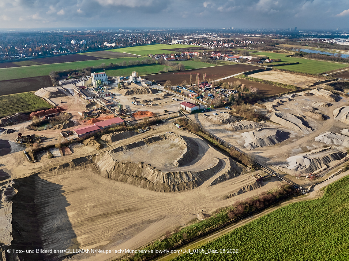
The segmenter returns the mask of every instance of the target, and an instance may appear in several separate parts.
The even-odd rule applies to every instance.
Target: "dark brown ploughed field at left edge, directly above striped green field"
[[[32,92],[50,86],[53,86],[53,84],[51,77],[48,75],[24,79],[1,80],[0,93],[2,95],[8,95],[21,92]]]

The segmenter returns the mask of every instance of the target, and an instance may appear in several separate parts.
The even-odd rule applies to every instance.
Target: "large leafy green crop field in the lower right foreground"
[[[172,260],[349,260],[348,217],[346,176],[328,185],[320,199],[279,208],[198,247],[218,253],[184,254]],[[220,249],[238,253],[223,254]]]

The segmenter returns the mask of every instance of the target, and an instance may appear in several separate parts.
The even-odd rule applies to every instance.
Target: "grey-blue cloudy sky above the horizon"
[[[349,28],[348,0],[0,0],[0,28]]]

